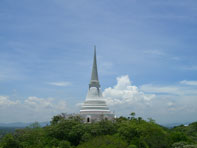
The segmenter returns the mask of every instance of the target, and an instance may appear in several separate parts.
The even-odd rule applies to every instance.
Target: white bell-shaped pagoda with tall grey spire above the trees
[[[114,114],[109,110],[105,99],[102,97],[97,72],[96,47],[94,47],[92,76],[89,84],[88,94],[86,96],[85,102],[81,106],[80,116],[86,123],[96,122],[102,119],[114,119]]]

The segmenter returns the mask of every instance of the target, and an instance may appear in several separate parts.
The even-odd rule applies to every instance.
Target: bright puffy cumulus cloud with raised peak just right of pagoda
[[[155,97],[154,94],[144,94],[137,86],[131,85],[128,75],[118,77],[117,84],[113,88],[106,88],[103,96],[109,105],[140,102],[148,104]]]

